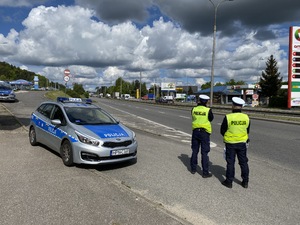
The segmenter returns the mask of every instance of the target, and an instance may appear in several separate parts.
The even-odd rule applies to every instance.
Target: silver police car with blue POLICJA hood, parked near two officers
[[[58,97],[31,115],[29,141],[58,152],[66,166],[135,161],[136,135],[90,99]]]

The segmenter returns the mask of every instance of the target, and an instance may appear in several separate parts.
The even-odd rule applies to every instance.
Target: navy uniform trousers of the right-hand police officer
[[[244,182],[249,181],[249,167],[248,167],[248,158],[247,158],[247,146],[246,143],[237,143],[237,144],[225,144],[226,147],[226,180],[231,182],[234,179],[235,174],[235,156],[237,156],[240,167],[241,167],[241,177]]]

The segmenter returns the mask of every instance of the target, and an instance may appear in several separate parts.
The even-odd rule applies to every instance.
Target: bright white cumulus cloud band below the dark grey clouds
[[[118,77],[139,79],[140,71],[147,83],[163,77],[199,86],[210,81],[211,36],[188,33],[162,18],[139,29],[128,21],[108,25],[94,20],[95,15],[80,6],[33,8],[23,21],[24,30],[12,29],[6,37],[0,34],[0,43],[5,43],[0,45],[0,59],[28,68],[39,66],[40,74],[61,83],[68,67],[75,75],[72,82],[87,88],[112,85]],[[255,82],[271,54],[286,76],[284,33],[278,40],[264,42],[254,36],[255,31],[243,38],[217,35],[215,82]]]

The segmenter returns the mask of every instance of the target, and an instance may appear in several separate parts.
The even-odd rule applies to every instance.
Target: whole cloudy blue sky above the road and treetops
[[[85,89],[118,77],[198,85],[253,84],[270,55],[287,80],[289,27],[299,0],[0,0],[0,61]],[[218,7],[217,7],[218,5]]]

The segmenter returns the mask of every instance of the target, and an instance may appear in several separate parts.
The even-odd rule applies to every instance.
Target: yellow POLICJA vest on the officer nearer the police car
[[[211,134],[211,123],[208,120],[209,108],[205,106],[196,106],[192,110],[192,129],[204,128],[206,132]]]

